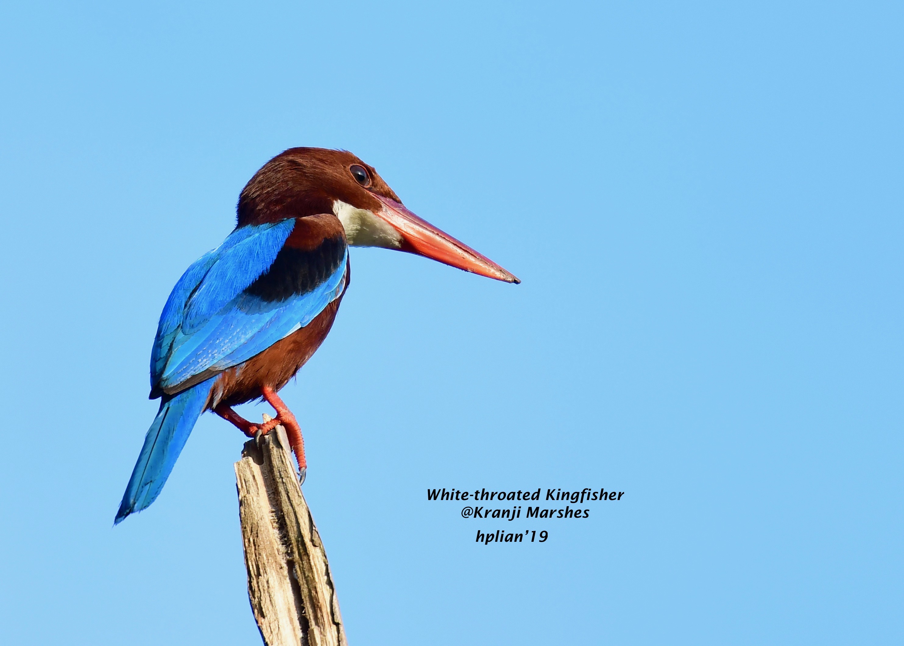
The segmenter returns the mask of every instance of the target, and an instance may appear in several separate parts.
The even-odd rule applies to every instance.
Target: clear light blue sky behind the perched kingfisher
[[[283,391],[353,646],[904,641],[902,17],[0,6],[0,641],[259,643],[240,432],[112,521],[166,296],[293,146],[523,280],[354,250]],[[435,487],[626,494],[484,546]]]

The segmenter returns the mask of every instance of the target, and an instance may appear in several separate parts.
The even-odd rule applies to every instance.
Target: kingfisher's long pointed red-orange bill
[[[383,203],[383,208],[376,215],[400,233],[404,241],[400,251],[417,253],[425,258],[487,278],[505,282],[521,282],[485,255],[477,253],[464,242],[458,242],[448,233],[442,232],[433,224],[422,220],[402,204],[389,197],[372,195]]]

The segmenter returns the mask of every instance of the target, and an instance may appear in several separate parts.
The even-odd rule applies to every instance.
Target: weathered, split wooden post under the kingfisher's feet
[[[277,426],[246,442],[241,456],[235,463],[241,539],[260,636],[267,646],[348,646],[286,430]]]

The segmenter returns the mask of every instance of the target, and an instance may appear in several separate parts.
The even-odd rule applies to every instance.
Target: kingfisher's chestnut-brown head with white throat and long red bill
[[[289,148],[242,189],[239,226],[334,214],[353,247],[416,253],[481,276],[521,282],[489,258],[411,213],[373,166],[352,153]]]

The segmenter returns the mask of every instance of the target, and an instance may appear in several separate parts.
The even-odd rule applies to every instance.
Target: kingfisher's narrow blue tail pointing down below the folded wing
[[[216,377],[211,377],[160,403],[160,410],[147,430],[145,445],[128,480],[114,525],[129,514],[150,507],[160,495],[194,423],[201,416],[214,379]]]

